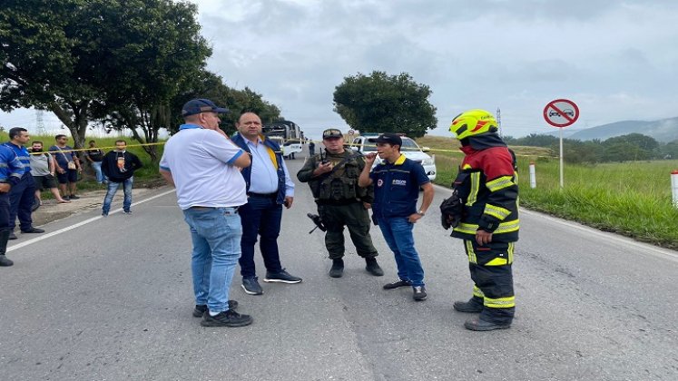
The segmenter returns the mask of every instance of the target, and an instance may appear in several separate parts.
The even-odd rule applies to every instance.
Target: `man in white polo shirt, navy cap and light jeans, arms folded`
[[[229,289],[241,257],[241,218],[247,202],[241,168],[250,156],[219,128],[218,113],[228,112],[207,99],[183,105],[185,124],[165,144],[162,177],[176,187],[179,207],[191,228],[193,316],[203,327],[243,327],[252,322],[235,312]]]

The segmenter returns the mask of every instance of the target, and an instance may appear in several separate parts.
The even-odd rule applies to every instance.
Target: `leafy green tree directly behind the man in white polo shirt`
[[[124,9],[112,7],[111,15],[99,22],[111,33],[109,44],[118,46],[106,57],[108,71],[121,78],[108,90],[101,116],[108,127],[129,129],[137,142],[157,143],[160,131],[171,127],[172,100],[202,72],[211,49],[200,35],[195,5],[126,3]],[[152,161],[158,159],[156,148],[143,146]]]

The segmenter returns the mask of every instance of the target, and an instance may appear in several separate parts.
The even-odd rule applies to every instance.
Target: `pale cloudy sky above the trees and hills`
[[[675,0],[193,3],[213,47],[208,68],[279,105],[312,138],[348,130],[334,88],[374,70],[430,86],[436,135],[469,108],[500,108],[506,135],[553,132],[542,112],[558,98],[579,105],[577,129],[678,116]]]

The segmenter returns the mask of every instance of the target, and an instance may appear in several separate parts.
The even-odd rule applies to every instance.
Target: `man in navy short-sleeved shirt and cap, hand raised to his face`
[[[388,283],[384,288],[412,286],[412,298],[425,300],[424,269],[414,247],[412,229],[433,201],[433,185],[421,164],[400,153],[402,139],[398,134],[383,133],[369,142],[377,143],[378,153],[365,156],[365,168],[360,172],[358,185],[375,184],[372,219],[378,224],[398,265],[398,281]],[[370,172],[377,154],[383,162]],[[424,190],[424,199],[421,208],[417,209],[419,188]]]

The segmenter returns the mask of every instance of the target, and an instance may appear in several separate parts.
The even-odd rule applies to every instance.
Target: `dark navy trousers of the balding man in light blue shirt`
[[[270,272],[280,272],[280,254],[278,252],[278,235],[282,220],[282,205],[275,199],[249,197],[247,203],[238,210],[241,215],[241,276],[253,278],[257,275],[254,268],[254,245],[260,237],[259,248],[264,259],[264,266]]]

